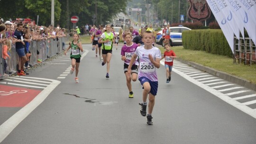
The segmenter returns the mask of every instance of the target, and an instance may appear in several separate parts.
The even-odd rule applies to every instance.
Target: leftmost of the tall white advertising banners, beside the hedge
[[[222,22],[223,20],[225,21],[226,18],[222,14],[221,9],[219,8],[219,5],[216,3],[215,0],[206,0],[211,12],[213,13],[214,17],[219,23],[219,27],[221,28],[224,36],[226,37],[229,46],[232,50],[232,53],[234,54],[234,33],[231,27],[229,27],[227,22]],[[227,21],[227,20],[226,20]]]

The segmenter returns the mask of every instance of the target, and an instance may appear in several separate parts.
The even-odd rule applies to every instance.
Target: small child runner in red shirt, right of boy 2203
[[[176,54],[173,50],[171,50],[170,44],[165,44],[165,53],[162,56],[161,60],[165,58],[165,68],[166,68],[166,83],[169,83],[171,81],[171,72],[174,65],[174,58],[176,58]]]

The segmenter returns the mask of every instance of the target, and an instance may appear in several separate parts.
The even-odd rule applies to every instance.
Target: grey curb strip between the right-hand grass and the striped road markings
[[[238,85],[241,85],[245,88],[248,88],[248,89],[251,89],[251,90],[256,90],[256,84],[253,84],[251,83],[250,81],[247,81],[247,80],[244,80],[242,78],[239,78],[237,76],[234,76],[234,75],[231,75],[231,74],[228,74],[226,72],[220,72],[220,71],[217,71],[213,68],[210,68],[210,67],[207,67],[207,66],[203,66],[201,64],[198,64],[198,63],[194,63],[194,62],[190,62],[190,61],[184,61],[180,58],[176,58],[177,61],[180,61],[182,63],[185,63],[185,64],[188,64],[198,70],[201,70],[203,72],[208,72],[216,77],[219,77],[223,80],[226,80],[226,81],[229,81],[229,82],[232,82],[232,83],[235,83],[235,84],[238,84]]]

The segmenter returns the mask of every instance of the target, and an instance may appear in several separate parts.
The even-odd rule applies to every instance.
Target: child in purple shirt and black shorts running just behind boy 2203
[[[135,60],[131,67],[131,75],[128,75],[128,66],[132,55],[137,49],[138,45],[132,42],[132,34],[130,32],[125,33],[125,41],[127,42],[121,49],[122,60],[124,61],[124,72],[126,76],[126,84],[129,90],[129,98],[133,98],[131,79],[137,81],[138,77],[138,62]]]

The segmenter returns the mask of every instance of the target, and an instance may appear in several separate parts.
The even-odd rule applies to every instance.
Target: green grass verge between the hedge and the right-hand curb
[[[81,36],[83,44],[90,44],[90,36]],[[164,47],[158,47],[162,54]],[[256,84],[256,65],[233,64],[233,59],[223,55],[209,54],[203,51],[193,51],[184,49],[183,46],[171,48],[177,57],[203,66],[208,66],[217,71],[226,72]]]

